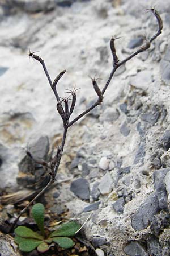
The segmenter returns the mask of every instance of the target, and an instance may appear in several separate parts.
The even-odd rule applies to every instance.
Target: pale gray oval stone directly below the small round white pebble
[[[107,172],[101,179],[99,184],[99,191],[101,195],[107,195],[109,192],[111,192],[113,185],[113,179],[111,174]]]

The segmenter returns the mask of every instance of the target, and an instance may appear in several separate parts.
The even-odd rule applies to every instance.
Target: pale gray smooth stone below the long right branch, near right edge
[[[140,71],[135,76],[130,77],[130,84],[136,88],[147,90],[152,83],[152,72],[151,71]]]

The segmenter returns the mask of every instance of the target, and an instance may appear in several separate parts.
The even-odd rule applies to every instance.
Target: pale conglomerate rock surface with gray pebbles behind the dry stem
[[[170,255],[170,1],[156,3],[162,35],[118,69],[103,104],[70,127],[58,172],[58,179],[69,181],[46,193],[55,213],[67,212],[82,224],[91,214],[86,237],[109,256]],[[88,76],[100,77],[102,88],[112,70],[111,37],[122,37],[116,41],[122,60],[156,31],[154,16],[144,11],[150,4],[1,1],[2,191],[23,188],[19,173],[29,167],[23,147],[47,148],[45,155],[49,144],[43,138],[55,150],[62,135],[53,92],[41,65],[25,56],[28,48],[40,51],[52,78],[67,70],[59,96],[81,88],[76,117],[96,97]]]

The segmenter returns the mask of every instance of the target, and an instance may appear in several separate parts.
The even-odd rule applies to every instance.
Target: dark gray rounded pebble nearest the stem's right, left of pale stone
[[[86,179],[74,180],[70,185],[70,190],[82,200],[88,200],[90,197],[89,184]]]

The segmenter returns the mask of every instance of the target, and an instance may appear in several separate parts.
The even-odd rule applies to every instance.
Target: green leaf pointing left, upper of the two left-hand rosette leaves
[[[38,240],[43,240],[43,237],[38,233],[33,232],[31,229],[26,228],[25,226],[18,226],[15,230],[15,234],[19,237],[24,238],[36,238]]]

